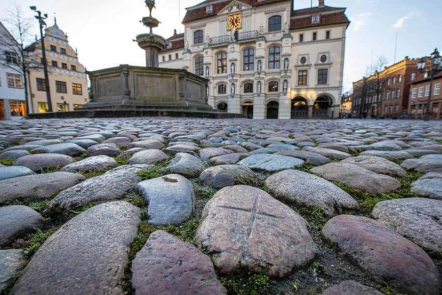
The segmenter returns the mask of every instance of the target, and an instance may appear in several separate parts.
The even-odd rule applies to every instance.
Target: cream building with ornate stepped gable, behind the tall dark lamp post
[[[68,36],[54,26],[45,29],[46,59],[49,71],[52,109],[54,112],[73,111],[88,102],[85,68],[78,60],[77,50],[68,42]],[[36,40],[25,50],[35,60],[41,60],[40,40]],[[45,113],[48,110],[46,84],[43,69],[32,69],[28,77],[29,101],[32,113]]]

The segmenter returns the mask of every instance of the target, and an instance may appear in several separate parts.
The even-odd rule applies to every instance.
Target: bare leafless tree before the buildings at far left
[[[26,114],[28,114],[27,73],[33,68],[41,68],[40,61],[34,60],[34,56],[27,55],[24,48],[24,44],[32,42],[30,33],[32,19],[24,18],[20,6],[14,4],[6,10],[6,18],[3,22],[9,31],[5,30],[0,34],[0,65],[23,76]]]

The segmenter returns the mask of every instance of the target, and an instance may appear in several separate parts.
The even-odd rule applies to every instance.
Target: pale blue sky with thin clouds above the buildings
[[[154,33],[168,38],[173,29],[183,32],[185,7],[201,1],[157,0],[152,15],[162,23]],[[68,34],[70,45],[78,49],[80,62],[88,70],[119,64],[145,65],[144,51],[133,41],[149,30],[139,22],[149,15],[143,0],[4,0],[0,1],[0,11],[14,3],[26,18],[33,17],[29,6],[36,5],[48,14],[49,26],[56,15],[58,27]],[[317,3],[313,0],[313,6]],[[437,3],[438,0],[325,0],[329,6],[347,7],[346,15],[351,21],[345,48],[344,90],[351,89],[352,82],[359,80],[380,56],[392,64],[405,56],[420,58],[428,56],[435,47],[442,49]],[[305,7],[310,7],[310,0],[295,0],[296,9]],[[3,21],[2,16],[0,19]],[[34,24],[32,31],[36,34],[36,20]]]

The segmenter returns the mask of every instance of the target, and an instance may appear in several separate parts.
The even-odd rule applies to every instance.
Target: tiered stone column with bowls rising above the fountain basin
[[[152,17],[152,8],[155,8],[155,0],[145,0],[149,8],[149,16],[145,16],[140,21],[149,28],[148,34],[139,34],[137,36],[138,46],[146,52],[146,67],[158,67],[158,52],[166,46],[166,40],[152,32],[152,28],[158,27],[160,21]]]

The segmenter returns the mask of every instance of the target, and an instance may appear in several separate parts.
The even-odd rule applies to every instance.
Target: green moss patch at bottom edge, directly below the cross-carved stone
[[[242,278],[221,277],[221,283],[228,295],[267,295],[271,289],[270,278],[261,274]]]

